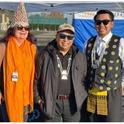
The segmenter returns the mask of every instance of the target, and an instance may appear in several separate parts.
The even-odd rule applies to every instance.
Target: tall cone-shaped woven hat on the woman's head
[[[19,6],[15,12],[15,16],[14,16],[10,26],[11,27],[15,27],[15,26],[27,27],[27,26],[29,26],[28,16],[27,16],[26,9],[25,9],[23,2],[19,3]]]

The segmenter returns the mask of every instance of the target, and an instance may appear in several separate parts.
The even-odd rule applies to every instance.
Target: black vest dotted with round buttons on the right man
[[[92,68],[91,53],[96,37],[89,40],[86,55],[88,63],[87,83],[90,88],[95,87],[98,91],[117,89],[121,85],[122,63],[119,57],[120,37],[113,35],[101,63],[97,69]]]

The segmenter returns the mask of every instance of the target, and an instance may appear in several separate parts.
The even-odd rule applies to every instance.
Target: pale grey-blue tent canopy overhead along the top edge
[[[99,9],[109,9],[111,11],[124,12],[124,2],[109,2],[107,1],[72,1],[72,2],[28,2],[25,1],[26,9],[28,12],[52,12],[58,11],[63,13],[96,11]],[[15,10],[18,2],[0,2],[1,9]]]

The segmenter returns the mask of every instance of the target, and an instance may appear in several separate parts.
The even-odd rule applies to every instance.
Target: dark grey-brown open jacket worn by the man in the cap
[[[45,112],[53,117],[55,111],[55,101],[57,97],[58,87],[58,66],[56,60],[56,41],[50,42],[44,50],[39,53],[35,85],[36,96],[40,96],[44,100]],[[72,48],[72,67],[71,77],[74,88],[77,108],[81,108],[83,101],[87,96],[84,86],[84,80],[87,71],[86,57],[79,51],[76,46]]]

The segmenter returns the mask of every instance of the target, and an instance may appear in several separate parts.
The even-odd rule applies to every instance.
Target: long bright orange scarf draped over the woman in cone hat
[[[7,43],[4,58],[4,97],[9,120],[22,122],[25,106],[33,110],[33,81],[36,46],[25,40],[19,47],[14,37]],[[13,74],[16,73],[16,81]]]

